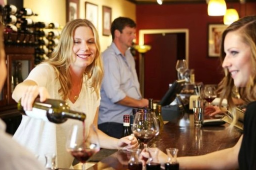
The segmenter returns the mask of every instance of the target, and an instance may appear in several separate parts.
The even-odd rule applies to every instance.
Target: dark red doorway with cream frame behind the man
[[[188,63],[188,30],[141,31],[139,32],[140,45],[143,43],[151,46],[150,51],[140,56],[140,72],[144,72],[139,74],[140,83],[144,84],[141,91],[144,98],[161,100],[169,84],[177,79],[176,61],[186,59]]]

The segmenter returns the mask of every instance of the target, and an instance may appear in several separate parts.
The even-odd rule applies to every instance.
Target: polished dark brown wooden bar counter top
[[[178,148],[178,156],[195,156],[232,147],[241,136],[241,130],[228,129],[229,124],[217,126],[194,126],[193,114],[164,125],[164,129],[148,146],[158,147],[166,153],[166,148]],[[119,150],[102,159],[88,169],[127,169],[129,152]]]

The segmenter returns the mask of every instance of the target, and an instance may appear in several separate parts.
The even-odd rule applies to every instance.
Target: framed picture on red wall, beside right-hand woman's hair
[[[219,57],[222,32],[227,28],[224,24],[208,25],[208,56]]]

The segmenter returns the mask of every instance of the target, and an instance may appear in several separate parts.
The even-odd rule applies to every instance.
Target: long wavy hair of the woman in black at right
[[[224,51],[224,40],[229,32],[236,31],[243,42],[250,47],[251,52],[251,64],[252,70],[251,75],[249,75],[249,80],[245,87],[237,87],[241,99],[245,101],[246,104],[256,100],[256,16],[247,16],[239,19],[238,21],[232,23],[223,33],[221,39],[220,47],[220,59],[221,63],[225,59],[226,53]],[[232,125],[237,121],[237,115],[235,111],[235,104],[232,100],[232,90],[234,89],[234,80],[228,70],[224,69],[226,76],[219,83],[219,94],[220,94],[220,104],[223,99],[228,100],[229,110],[231,110],[233,116]]]

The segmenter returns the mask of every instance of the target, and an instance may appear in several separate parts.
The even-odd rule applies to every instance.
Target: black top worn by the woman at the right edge
[[[245,111],[238,163],[239,169],[256,169],[256,102],[250,103]]]

